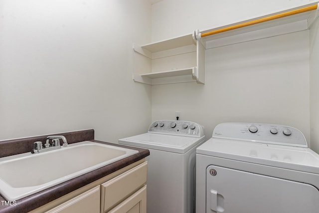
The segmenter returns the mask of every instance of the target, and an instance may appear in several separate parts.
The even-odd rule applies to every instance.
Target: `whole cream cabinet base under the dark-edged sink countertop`
[[[142,159],[30,213],[146,213],[147,165]]]

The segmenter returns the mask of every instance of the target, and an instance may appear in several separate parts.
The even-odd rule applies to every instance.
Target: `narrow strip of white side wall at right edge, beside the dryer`
[[[310,140],[319,153],[319,20],[310,30]]]

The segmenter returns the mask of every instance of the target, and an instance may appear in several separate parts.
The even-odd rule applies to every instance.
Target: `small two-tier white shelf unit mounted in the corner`
[[[192,34],[142,46],[133,44],[133,49],[151,64],[149,72],[135,68],[134,81],[150,85],[192,81],[204,83],[204,47],[193,40]]]

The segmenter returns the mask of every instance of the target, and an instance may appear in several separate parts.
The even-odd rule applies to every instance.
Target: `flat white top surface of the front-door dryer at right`
[[[309,148],[211,138],[196,153],[319,174],[319,155]]]

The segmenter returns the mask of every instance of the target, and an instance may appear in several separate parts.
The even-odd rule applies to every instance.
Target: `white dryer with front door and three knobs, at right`
[[[197,213],[319,212],[319,155],[295,128],[222,123],[196,153]]]

